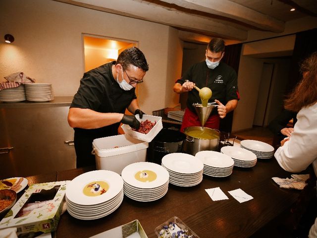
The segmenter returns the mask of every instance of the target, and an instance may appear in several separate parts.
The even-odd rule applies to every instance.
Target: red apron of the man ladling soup
[[[211,115],[207,119],[204,127],[208,127],[211,129],[219,129],[219,123],[220,123],[219,115]],[[183,132],[184,129],[189,126],[202,126],[202,124],[200,123],[200,120],[197,114],[193,113],[188,108],[186,108],[185,114],[183,117],[182,126],[180,127],[180,131]]]

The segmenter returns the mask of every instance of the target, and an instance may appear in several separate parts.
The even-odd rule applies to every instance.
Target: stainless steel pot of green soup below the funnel
[[[184,129],[186,140],[183,143],[185,153],[196,155],[203,150],[218,150],[220,132],[203,126],[190,126]]]

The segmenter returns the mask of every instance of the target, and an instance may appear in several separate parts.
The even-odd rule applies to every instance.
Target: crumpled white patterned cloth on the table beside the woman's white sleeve
[[[281,179],[273,177],[273,181],[276,182],[279,187],[286,189],[298,189],[303,190],[306,186],[306,180],[309,179],[309,175],[291,175],[291,179]]]

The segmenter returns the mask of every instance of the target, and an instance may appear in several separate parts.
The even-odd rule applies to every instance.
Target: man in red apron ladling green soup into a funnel
[[[216,102],[217,110],[213,110],[205,123],[205,127],[218,129],[220,118],[233,111],[239,100],[237,74],[233,68],[222,62],[224,56],[224,41],[213,38],[207,46],[206,60],[192,65],[173,87],[174,92],[181,94],[188,92],[187,108],[182,121],[181,131],[188,126],[201,126],[200,120],[193,106],[201,103],[199,92],[193,90],[209,87],[212,91],[209,103]]]

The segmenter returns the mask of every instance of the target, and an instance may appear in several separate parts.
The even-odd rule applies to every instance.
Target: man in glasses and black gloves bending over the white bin
[[[140,127],[135,116],[124,112],[128,109],[142,118],[135,87],[148,70],[144,54],[133,47],[121,52],[116,61],[84,73],[68,112],[68,123],[75,131],[77,168],[95,165],[93,140],[117,135],[120,122]]]

